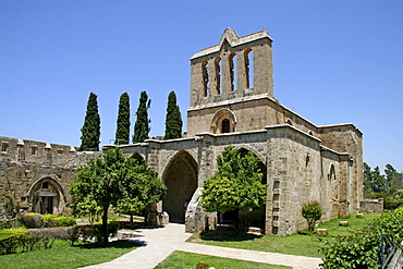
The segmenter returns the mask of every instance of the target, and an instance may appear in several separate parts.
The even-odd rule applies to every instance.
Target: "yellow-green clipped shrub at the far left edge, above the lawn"
[[[24,228],[0,230],[0,254],[16,253],[20,246],[25,246],[27,232]]]

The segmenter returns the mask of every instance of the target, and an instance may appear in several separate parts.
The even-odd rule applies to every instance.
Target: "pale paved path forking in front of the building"
[[[297,269],[317,269],[321,259],[277,253],[255,252],[229,247],[202,245],[185,242],[192,234],[185,233],[183,224],[170,223],[160,229],[137,230],[136,237],[144,246],[138,247],[112,261],[88,266],[86,269],[152,269],[173,250],[198,253],[210,256],[242,259],[271,265],[290,266]]]

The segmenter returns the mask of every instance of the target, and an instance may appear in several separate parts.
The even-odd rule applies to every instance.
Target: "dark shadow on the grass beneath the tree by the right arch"
[[[249,241],[260,239],[262,235],[247,233],[246,230],[236,231],[233,227],[218,227],[217,230],[203,231],[199,239],[204,241]]]

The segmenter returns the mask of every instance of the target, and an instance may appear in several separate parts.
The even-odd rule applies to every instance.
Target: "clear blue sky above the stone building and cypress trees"
[[[163,135],[175,90],[185,121],[190,58],[264,27],[273,38],[274,97],[317,125],[354,123],[364,160],[403,170],[402,0],[0,0],[0,136],[80,146],[88,95],[101,145],[114,138],[129,93],[152,99]]]

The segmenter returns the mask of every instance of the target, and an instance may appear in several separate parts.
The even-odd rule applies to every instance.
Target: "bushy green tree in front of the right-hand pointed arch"
[[[205,182],[202,207],[208,212],[252,211],[266,203],[267,184],[261,183],[259,158],[248,152],[242,155],[228,146],[217,157],[218,171]],[[235,223],[237,228],[239,223]]]

